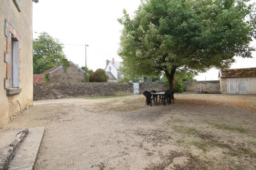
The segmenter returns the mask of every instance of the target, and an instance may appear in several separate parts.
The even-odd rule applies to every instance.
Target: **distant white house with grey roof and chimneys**
[[[108,82],[118,82],[118,80],[123,79],[123,74],[120,71],[120,65],[121,62],[115,61],[114,58],[112,58],[112,61],[106,60],[106,75],[109,76]]]

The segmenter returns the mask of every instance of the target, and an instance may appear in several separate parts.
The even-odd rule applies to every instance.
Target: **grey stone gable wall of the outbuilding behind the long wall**
[[[50,83],[82,83],[86,80],[86,73],[70,62],[70,66],[65,72],[62,67],[58,67],[53,72],[50,72]]]

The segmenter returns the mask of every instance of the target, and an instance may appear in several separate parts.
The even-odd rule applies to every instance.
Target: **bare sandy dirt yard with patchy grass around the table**
[[[5,127],[45,126],[35,169],[256,169],[256,95],[36,101]]]

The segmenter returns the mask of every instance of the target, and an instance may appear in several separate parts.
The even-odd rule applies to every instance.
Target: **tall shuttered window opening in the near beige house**
[[[11,47],[11,69],[10,69],[10,86],[12,88],[18,88],[18,41],[17,39],[12,38],[12,47]]]

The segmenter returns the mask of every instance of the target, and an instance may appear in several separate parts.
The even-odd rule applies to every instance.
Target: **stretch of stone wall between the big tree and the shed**
[[[186,86],[186,91],[209,91],[219,92],[220,81],[196,81],[196,82],[183,82]]]

